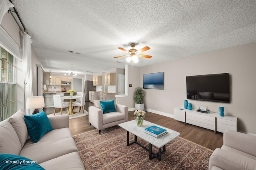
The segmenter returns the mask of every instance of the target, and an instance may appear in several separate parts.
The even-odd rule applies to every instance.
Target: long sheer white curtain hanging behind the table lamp
[[[32,91],[32,56],[31,56],[31,37],[24,33],[24,42],[22,50],[22,66],[24,73],[24,111],[27,115],[32,115],[33,110],[26,108],[27,97],[33,96]]]

